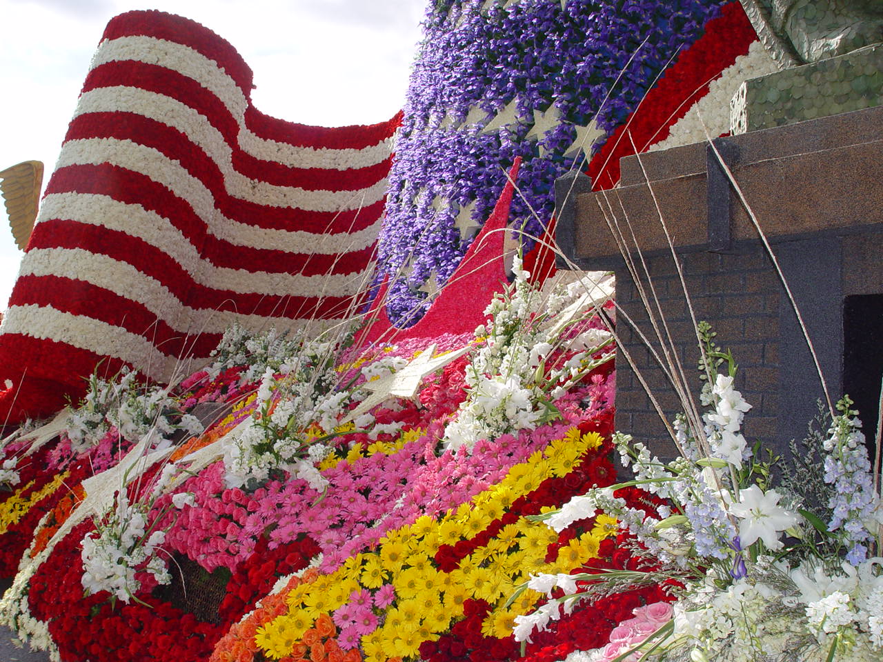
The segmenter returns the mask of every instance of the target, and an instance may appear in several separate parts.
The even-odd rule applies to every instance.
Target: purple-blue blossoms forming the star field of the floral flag
[[[400,326],[428,305],[419,287],[430,275],[445,282],[468,248],[472,237],[454,227],[461,207],[474,201],[472,220],[485,222],[520,156],[509,224],[539,236],[555,207],[555,178],[582,161],[567,153],[573,126],[595,118],[609,135],[725,3],[569,0],[562,9],[557,0],[522,0],[482,11],[483,4],[428,2],[379,247],[381,276],[409,267],[389,288],[389,316]],[[482,132],[515,99],[517,123]],[[553,103],[562,124],[528,139],[534,111]],[[464,124],[473,107],[484,113]],[[433,207],[437,196],[452,205]]]

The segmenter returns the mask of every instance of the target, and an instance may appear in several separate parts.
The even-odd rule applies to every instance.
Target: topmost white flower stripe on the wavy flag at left
[[[298,147],[289,143],[261,138],[245,126],[248,99],[236,82],[218,68],[214,60],[187,46],[148,36],[128,36],[102,41],[92,68],[115,61],[134,60],[159,64],[196,80],[230,110],[239,124],[239,147],[248,154],[293,168],[351,169],[383,162],[391,154],[393,140],[383,139],[375,145],[353,149]]]

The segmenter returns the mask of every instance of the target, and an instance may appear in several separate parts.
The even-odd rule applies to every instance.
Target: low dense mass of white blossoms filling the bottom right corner
[[[831,570],[761,557],[725,590],[710,580],[675,604],[674,641],[694,659],[871,662],[883,653],[883,576],[876,559]],[[812,642],[818,645],[812,645]]]

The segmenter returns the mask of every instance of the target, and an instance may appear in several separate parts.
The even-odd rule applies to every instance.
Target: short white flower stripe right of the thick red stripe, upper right
[[[687,114],[672,124],[668,137],[648,149],[655,152],[670,147],[691,145],[706,140],[706,129],[712,138],[729,131],[729,100],[746,79],[779,71],[760,41],[754,41],[748,53],[721,71],[720,78],[708,86],[708,94],[694,103]],[[701,119],[700,119],[701,117]]]

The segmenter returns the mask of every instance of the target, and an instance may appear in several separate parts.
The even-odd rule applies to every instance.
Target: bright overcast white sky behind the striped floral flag
[[[0,0],[0,169],[57,160],[89,60],[113,16],[180,14],[230,41],[260,111],[303,124],[373,124],[404,102],[427,0]],[[0,207],[0,310],[20,252]]]

